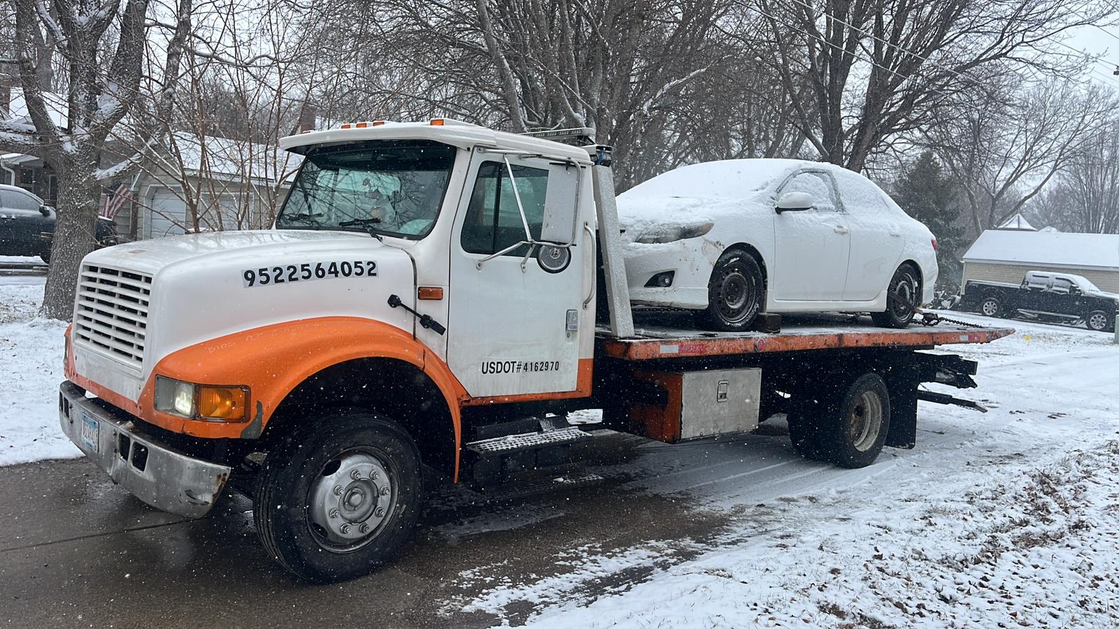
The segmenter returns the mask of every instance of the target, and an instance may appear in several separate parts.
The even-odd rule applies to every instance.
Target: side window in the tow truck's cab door
[[[539,235],[544,222],[544,199],[548,191],[548,171],[527,166],[514,166],[513,179],[504,162],[487,161],[478,168],[474,189],[467,206],[462,224],[462,250],[467,253],[489,255],[525,240],[517,197],[517,184],[525,218],[534,236]],[[517,247],[506,255],[525,255],[525,247]]]

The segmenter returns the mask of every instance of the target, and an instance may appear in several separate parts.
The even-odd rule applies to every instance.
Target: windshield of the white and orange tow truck
[[[314,150],[292,182],[276,228],[422,238],[439,216],[454,153],[454,147],[417,140]]]

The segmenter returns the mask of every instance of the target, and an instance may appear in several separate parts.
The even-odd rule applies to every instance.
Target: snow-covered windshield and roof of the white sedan
[[[626,190],[621,198],[692,197],[741,199],[805,166],[796,159],[726,159],[681,166]]]

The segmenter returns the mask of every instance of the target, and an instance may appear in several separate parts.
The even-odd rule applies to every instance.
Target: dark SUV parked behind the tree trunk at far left
[[[0,255],[38,255],[50,262],[55,210],[43,199],[16,186],[0,184]],[[97,218],[98,246],[119,242],[113,222]]]

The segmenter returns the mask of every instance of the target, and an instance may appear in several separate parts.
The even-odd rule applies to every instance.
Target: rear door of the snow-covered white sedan
[[[839,199],[850,228],[850,256],[844,301],[871,301],[890,285],[905,248],[903,217],[885,193],[862,175],[837,171]]]

